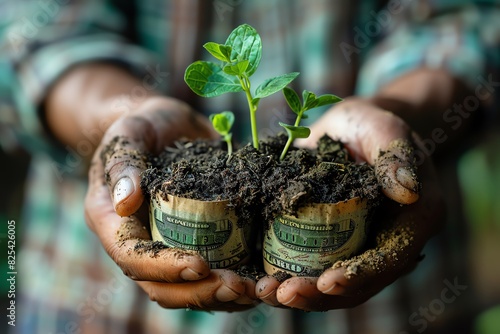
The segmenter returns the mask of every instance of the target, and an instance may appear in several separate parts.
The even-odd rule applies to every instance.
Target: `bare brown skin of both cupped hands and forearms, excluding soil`
[[[441,80],[439,85],[436,84],[437,78]],[[412,82],[415,85],[411,85],[409,91],[407,85]],[[349,98],[332,108],[313,126],[306,145],[310,146],[327,132],[346,142],[358,159],[376,165],[379,151],[386,149],[395,139],[416,140],[418,145],[406,123],[385,111],[381,105],[385,107],[388,101],[393,103],[393,110],[400,115],[404,115],[405,108],[397,110],[397,106],[411,106],[412,113],[419,110],[420,118],[432,119],[428,113],[453,103],[454,83],[455,80],[446,72],[423,69],[391,83],[373,99]],[[388,261],[382,273],[368,272],[363,277],[347,280],[344,277],[345,268],[341,267],[327,270],[319,278],[291,278],[280,284],[271,277],[265,277],[255,284],[232,271],[210,271],[206,262],[196,254],[177,257],[173,250],[164,249],[157,257],[148,253],[131,256],[129,250],[137,241],[150,240],[150,235],[142,228],[147,225],[147,218],[139,214],[143,209],[143,195],[139,187],[143,167],[127,164],[127,156],[137,152],[158,152],[161,147],[182,136],[215,135],[207,120],[193,113],[186,104],[160,97],[154,92],[141,101],[130,100],[128,112],[115,112],[113,105],[116,101],[122,94],[130,94],[136,85],[141,85],[141,82],[111,64],[75,67],[50,92],[45,105],[46,120],[56,138],[72,147],[85,139],[85,131],[102,131],[102,139],[96,143],[98,145],[89,169],[89,189],[85,199],[87,223],[124,273],[136,280],[150,298],[163,307],[234,311],[252,307],[256,298],[271,305],[304,310],[353,307],[412,270],[421,248],[440,228],[442,198],[437,191],[431,163],[426,161],[418,170],[418,178],[423,184],[419,194],[412,190],[415,180],[403,177],[403,181],[398,182],[396,170],[399,165],[391,165],[384,170],[390,185],[385,189],[386,195],[400,203],[414,203],[404,207],[394,205],[388,219],[398,221],[410,217],[420,228],[415,236],[416,242],[404,250],[411,261]],[[422,109],[427,101],[435,108]],[[423,124],[432,129],[432,123]],[[130,144],[119,155],[108,156],[103,165],[100,153],[115,136],[125,136],[130,139]],[[410,164],[403,160],[400,165]],[[106,174],[109,175],[107,182]],[[124,176],[132,180],[133,191],[114,203],[113,188]],[[117,231],[124,224],[133,228],[127,240],[120,240]],[[336,286],[332,288],[334,284]]]

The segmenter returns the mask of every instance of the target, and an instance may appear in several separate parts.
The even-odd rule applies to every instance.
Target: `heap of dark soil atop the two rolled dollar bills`
[[[292,148],[279,160],[287,137],[261,141],[229,158],[221,141],[177,142],[148,161],[142,189],[198,200],[229,200],[241,222],[271,221],[306,203],[353,197],[376,201],[379,185],[368,164],[356,164],[341,142],[324,136],[317,150]],[[260,217],[256,217],[256,214]]]

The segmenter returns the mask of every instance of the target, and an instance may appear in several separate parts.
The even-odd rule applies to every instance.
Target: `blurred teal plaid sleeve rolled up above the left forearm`
[[[128,39],[126,16],[108,1],[8,1],[0,22],[0,123],[34,150],[53,151],[40,118],[41,104],[55,81],[84,62],[109,61],[137,76],[157,64]],[[0,137],[1,140],[1,137]]]

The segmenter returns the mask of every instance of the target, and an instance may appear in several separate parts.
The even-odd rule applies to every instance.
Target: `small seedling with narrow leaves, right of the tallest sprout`
[[[286,130],[288,134],[288,140],[285,144],[283,152],[281,152],[280,160],[283,160],[288,152],[288,149],[297,138],[307,138],[311,134],[311,130],[308,127],[300,126],[300,121],[306,119],[307,115],[305,112],[323,107],[329,104],[337,103],[342,101],[338,96],[332,94],[325,94],[321,96],[316,96],[316,94],[304,90],[302,92],[302,103],[300,102],[299,95],[289,87],[283,88],[283,95],[285,95],[286,102],[292,111],[297,115],[294,125],[285,124],[279,122],[279,124]]]

